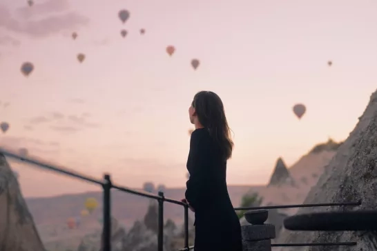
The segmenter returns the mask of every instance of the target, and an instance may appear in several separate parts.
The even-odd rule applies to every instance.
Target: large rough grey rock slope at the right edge
[[[360,207],[302,208],[301,213],[329,210],[377,208],[377,92],[371,99],[356,128],[340,145],[318,183],[311,189],[305,203],[358,201]],[[284,250],[377,250],[376,232],[290,232],[284,230],[280,243],[357,241],[356,247],[303,247]]]

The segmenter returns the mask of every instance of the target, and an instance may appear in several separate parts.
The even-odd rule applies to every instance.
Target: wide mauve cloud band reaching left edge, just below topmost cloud
[[[42,9],[44,11],[48,8],[43,7]],[[18,19],[14,19],[6,6],[0,5],[0,28],[3,27],[13,32],[28,34],[32,37],[45,37],[60,32],[61,30],[84,26],[88,21],[87,17],[75,12],[68,12],[50,15],[49,17],[44,17],[37,21],[28,20],[22,22]]]

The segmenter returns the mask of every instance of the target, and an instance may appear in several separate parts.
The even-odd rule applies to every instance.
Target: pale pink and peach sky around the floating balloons
[[[10,106],[0,120],[11,128],[0,145],[131,187],[182,187],[187,108],[195,92],[213,90],[235,133],[228,183],[266,183],[278,157],[291,165],[356,125],[377,86],[376,10],[372,0],[3,0],[0,101]],[[28,78],[24,61],[35,65]],[[307,106],[301,121],[295,103]],[[26,196],[93,190],[14,169]]]

